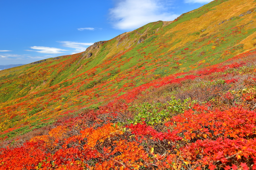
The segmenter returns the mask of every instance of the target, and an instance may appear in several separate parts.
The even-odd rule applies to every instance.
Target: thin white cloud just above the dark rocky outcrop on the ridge
[[[85,46],[90,46],[93,43],[81,43],[81,42],[74,42],[74,41],[58,41],[59,43],[62,44],[64,47],[69,47],[69,48],[75,48],[76,50],[73,50],[71,54],[76,54],[76,53],[81,53],[86,50],[87,47]]]

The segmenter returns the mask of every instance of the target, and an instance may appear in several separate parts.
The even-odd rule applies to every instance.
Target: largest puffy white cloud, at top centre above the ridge
[[[110,20],[116,29],[136,29],[155,21],[172,21],[179,15],[166,11],[164,0],[121,0],[110,10]]]

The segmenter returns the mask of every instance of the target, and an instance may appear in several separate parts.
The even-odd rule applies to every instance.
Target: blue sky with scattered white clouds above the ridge
[[[0,65],[83,52],[149,22],[172,21],[211,0],[1,0]]]

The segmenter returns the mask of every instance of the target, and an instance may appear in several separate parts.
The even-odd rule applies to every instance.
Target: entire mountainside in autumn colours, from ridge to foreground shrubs
[[[0,71],[0,169],[256,169],[255,5]]]

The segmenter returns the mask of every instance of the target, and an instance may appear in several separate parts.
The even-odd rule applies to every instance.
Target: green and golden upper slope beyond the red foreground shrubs
[[[0,130],[11,130],[7,137],[13,137],[51,124],[67,111],[97,107],[114,94],[159,77],[250,50],[256,43],[254,4],[213,1],[172,23],[149,23],[83,53],[2,70]]]

